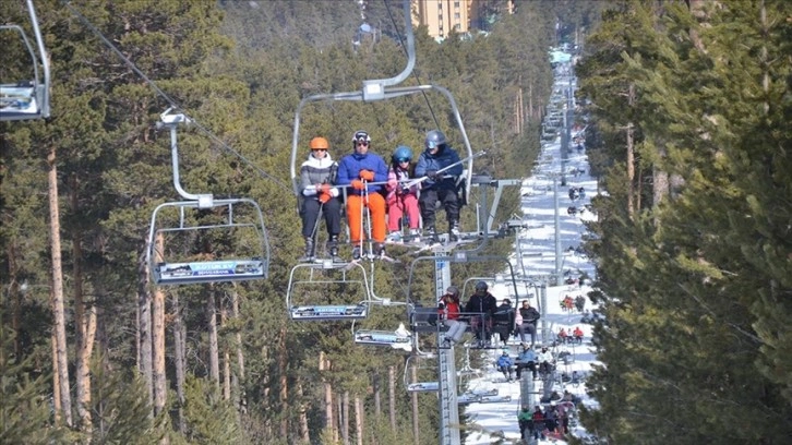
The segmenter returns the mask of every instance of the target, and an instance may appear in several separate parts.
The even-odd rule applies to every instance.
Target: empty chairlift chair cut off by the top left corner
[[[24,45],[29,56],[29,60],[20,61],[20,68],[22,65],[26,68],[22,70],[23,72],[16,73],[21,77],[0,79],[0,121],[44,119],[49,118],[50,115],[49,57],[38,27],[33,0],[27,0],[27,12],[35,37],[35,47],[21,26],[0,25],[0,32],[7,31],[19,35],[19,41]],[[3,51],[10,51],[10,48],[7,47]],[[9,69],[10,67],[3,68]],[[7,71],[3,70],[3,73]]]

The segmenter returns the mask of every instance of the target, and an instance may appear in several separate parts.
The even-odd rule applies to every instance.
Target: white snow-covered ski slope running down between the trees
[[[568,80],[564,84],[568,85]],[[559,176],[562,171],[565,172],[565,187],[561,185],[561,178]],[[590,199],[597,193],[597,182],[589,176],[589,166],[585,148],[577,149],[575,144],[571,144],[566,159],[562,161],[560,139],[544,145],[531,177],[523,183],[523,214],[528,228],[524,229],[518,237],[518,242],[521,243],[523,262],[520,264],[515,254],[513,261],[515,270],[526,276],[549,275],[555,272],[555,197],[553,178],[556,178],[559,189],[560,238],[563,254],[562,270],[565,273],[565,279],[578,279],[583,274],[586,274],[589,278],[593,278],[596,273],[593,265],[586,256],[576,252],[575,248],[580,244],[581,237],[586,231],[584,220],[595,218],[595,216],[590,211],[571,215],[567,213],[567,209],[572,206],[578,209],[586,208],[586,204],[589,204]],[[577,189],[584,188],[584,196],[574,201],[571,200],[568,191],[573,187]],[[584,281],[584,284],[578,281],[571,285],[548,288],[547,315],[544,320],[549,324],[550,338],[545,338],[544,344],[552,342],[555,334],[562,327],[567,332],[572,332],[576,326],[579,326],[585,334],[583,345],[567,344],[551,347],[551,350],[553,350],[556,357],[564,351],[571,353],[566,361],[556,361],[559,373],[565,372],[572,375],[573,371],[577,371],[578,374],[585,377],[590,373],[591,365],[597,362],[597,358],[592,352],[593,348],[591,347],[591,325],[580,322],[580,312],[576,310],[565,311],[561,308],[561,301],[567,294],[573,299],[577,296],[586,297],[590,290],[589,284],[590,281]],[[492,291],[499,299],[499,303],[501,303],[503,298],[507,297],[505,286],[493,286]],[[529,293],[533,292],[529,291]],[[531,305],[537,306],[538,301],[536,296],[530,301]],[[591,303],[586,299],[585,310],[591,311],[592,309]],[[538,336],[537,342],[541,342],[540,336]],[[518,348],[519,340],[514,337],[511,338],[509,354],[513,358],[516,358]],[[467,389],[477,394],[492,394],[496,390],[501,400],[511,397],[509,401],[473,402],[464,407],[460,406],[460,418],[467,416],[471,430],[465,441],[468,445],[491,444],[496,441],[497,436],[504,437],[506,443],[520,443],[517,414],[521,407],[520,386],[524,385],[519,382],[503,382],[503,374],[494,365],[501,352],[501,350],[471,351],[471,354],[481,353],[484,358],[482,369],[478,370],[481,373],[469,380],[467,377],[460,377],[463,378],[463,382],[460,382],[460,392]],[[464,353],[465,351],[461,348],[457,348],[457,354]],[[530,371],[525,371],[525,374],[530,378]],[[532,382],[532,392],[536,394],[532,395],[531,399],[531,412],[536,405],[548,405],[540,402],[540,397],[542,397],[543,393],[543,382],[541,380],[535,381]],[[564,390],[568,390],[574,396],[579,397],[586,406],[590,407],[596,405],[596,400],[590,399],[586,395],[585,383],[577,385],[573,383],[556,383],[553,386],[553,390],[561,395],[564,394]],[[576,421],[571,422],[569,430],[573,435],[578,437],[587,435],[586,431]],[[564,444],[566,442],[563,440],[548,438],[538,442],[529,441],[527,443]]]

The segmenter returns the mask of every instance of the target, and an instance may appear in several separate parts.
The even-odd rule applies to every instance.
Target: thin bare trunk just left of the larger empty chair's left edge
[[[147,249],[147,248],[146,248]],[[159,252],[155,252],[159,255]],[[137,350],[137,369],[146,381],[148,405],[154,406],[154,376],[152,365],[152,293],[148,288],[149,270],[146,264],[146,253],[143,252],[137,260],[137,335],[140,349]],[[154,416],[154,411],[149,412]]]

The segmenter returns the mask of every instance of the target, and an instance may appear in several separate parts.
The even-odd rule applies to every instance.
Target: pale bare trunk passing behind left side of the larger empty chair
[[[159,252],[165,248],[165,236],[157,233],[155,238],[158,252],[156,262],[163,261]],[[154,414],[159,414],[165,408],[168,387],[165,375],[165,292],[154,288],[152,301],[152,377],[154,382]]]

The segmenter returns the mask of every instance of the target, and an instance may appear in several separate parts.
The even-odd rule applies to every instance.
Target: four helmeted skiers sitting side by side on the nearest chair
[[[459,155],[439,130],[427,133],[424,151],[412,164],[412,149],[398,145],[391,155],[389,165],[372,152],[371,136],[365,131],[352,135],[352,153],[338,163],[331,156],[329,143],[316,136],[309,143],[308,159],[300,167],[300,216],[305,252],[302,262],[315,257],[315,238],[319,221],[324,217],[327,229],[327,252],[334,261],[338,256],[341,230],[341,205],[346,196],[349,241],[352,260],[363,251],[364,211],[371,216],[371,240],[376,256],[385,255],[385,242],[400,242],[403,226],[409,227],[409,242],[421,242],[422,236],[432,243],[440,242],[435,229],[435,205],[440,201],[448,220],[448,238],[459,238],[460,196],[458,179],[463,173]],[[341,191],[346,189],[346,193]],[[423,220],[424,233],[420,230]]]

